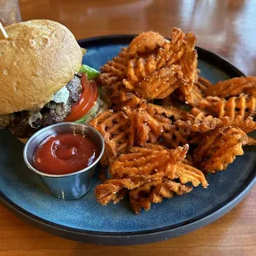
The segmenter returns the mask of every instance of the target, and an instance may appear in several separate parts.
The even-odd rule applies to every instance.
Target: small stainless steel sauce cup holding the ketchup
[[[32,162],[33,154],[36,148],[50,135],[59,135],[63,133],[86,135],[98,146],[99,155],[97,159],[95,159],[90,166],[83,168],[76,173],[55,175],[38,171],[36,168],[34,168]],[[30,140],[28,140],[25,145],[23,157],[27,167],[40,176],[55,197],[64,200],[73,200],[83,197],[83,195],[90,190],[95,168],[98,161],[102,158],[103,152],[104,140],[102,135],[92,126],[79,125],[73,122],[63,122],[56,125],[47,126],[37,131],[36,134],[32,135]]]

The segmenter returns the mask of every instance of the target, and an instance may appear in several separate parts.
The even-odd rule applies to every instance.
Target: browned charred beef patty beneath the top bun
[[[66,116],[69,116],[71,107],[74,103],[78,102],[81,97],[82,85],[81,79],[77,75],[66,85],[69,90],[69,99],[66,104],[49,102],[40,110],[42,119],[37,119],[33,122],[33,126],[38,129],[50,126],[55,123],[64,121]],[[32,128],[29,123],[29,112],[20,111],[15,113],[10,130],[19,138],[27,138],[35,133],[36,129]]]

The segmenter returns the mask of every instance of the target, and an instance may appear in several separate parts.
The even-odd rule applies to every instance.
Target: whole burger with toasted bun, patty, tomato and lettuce
[[[0,40],[0,127],[23,142],[62,121],[85,122],[102,109],[97,70],[69,29],[48,20],[6,26]],[[90,78],[90,79],[88,79]]]

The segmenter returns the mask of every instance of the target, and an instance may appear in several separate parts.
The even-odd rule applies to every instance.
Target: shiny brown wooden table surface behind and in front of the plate
[[[197,45],[256,75],[254,0],[21,0],[23,21],[62,22],[78,38],[109,34],[193,31]],[[188,235],[155,244],[107,247],[60,239],[17,219],[0,206],[0,255],[254,255],[256,187],[233,211]]]

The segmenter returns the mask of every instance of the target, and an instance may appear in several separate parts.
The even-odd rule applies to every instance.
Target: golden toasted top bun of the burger
[[[68,28],[34,20],[5,27],[0,40],[0,115],[40,109],[77,73],[83,53]]]

